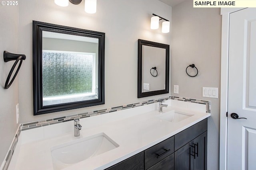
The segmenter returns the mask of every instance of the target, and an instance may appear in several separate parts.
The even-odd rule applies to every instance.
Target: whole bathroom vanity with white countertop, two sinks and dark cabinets
[[[205,170],[205,104],[167,100],[21,132],[10,170]],[[65,154],[66,153],[66,154]]]

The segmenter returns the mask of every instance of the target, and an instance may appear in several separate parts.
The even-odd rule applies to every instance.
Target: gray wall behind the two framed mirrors
[[[158,0],[98,0],[96,14],[87,14],[84,1],[64,8],[54,0],[19,1],[18,50],[27,55],[19,74],[21,123],[170,96],[137,98],[138,39],[171,45],[171,33],[150,29],[153,13],[171,20],[172,8]],[[33,116],[32,20],[106,33],[104,105]]]

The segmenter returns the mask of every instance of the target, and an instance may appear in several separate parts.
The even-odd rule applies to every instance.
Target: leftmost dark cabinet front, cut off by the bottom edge
[[[106,170],[144,170],[144,152],[140,152]]]

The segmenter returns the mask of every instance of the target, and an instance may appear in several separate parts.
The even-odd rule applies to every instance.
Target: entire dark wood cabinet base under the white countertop
[[[207,119],[106,170],[207,170]]]

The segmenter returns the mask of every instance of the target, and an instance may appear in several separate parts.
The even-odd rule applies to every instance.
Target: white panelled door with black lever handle
[[[227,169],[256,170],[256,8],[230,14],[229,37]]]

